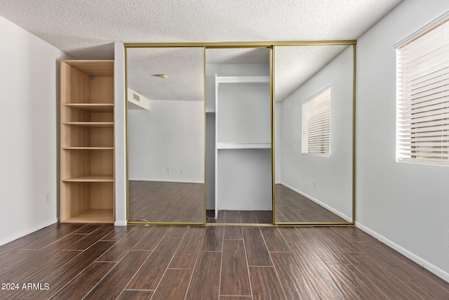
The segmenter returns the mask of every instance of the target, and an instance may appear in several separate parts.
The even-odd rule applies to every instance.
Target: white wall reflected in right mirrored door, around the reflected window
[[[349,46],[282,103],[276,105],[277,183],[352,219],[353,51]],[[330,86],[330,155],[302,155],[302,103]],[[279,141],[280,140],[280,143]],[[314,188],[313,181],[316,186]]]

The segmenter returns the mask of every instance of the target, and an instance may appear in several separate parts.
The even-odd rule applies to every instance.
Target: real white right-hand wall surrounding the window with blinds
[[[356,225],[449,280],[449,169],[395,162],[394,44],[449,10],[406,0],[358,39]]]

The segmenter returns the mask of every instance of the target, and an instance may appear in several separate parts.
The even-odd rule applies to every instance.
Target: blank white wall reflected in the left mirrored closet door
[[[149,101],[128,110],[129,179],[203,183],[203,102]]]

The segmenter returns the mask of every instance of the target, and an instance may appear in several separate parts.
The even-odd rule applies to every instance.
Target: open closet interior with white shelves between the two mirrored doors
[[[272,222],[269,54],[269,48],[206,49],[210,222]]]

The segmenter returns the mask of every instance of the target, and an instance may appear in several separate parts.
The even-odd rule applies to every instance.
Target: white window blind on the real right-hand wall
[[[396,49],[396,158],[449,162],[449,22]]]

